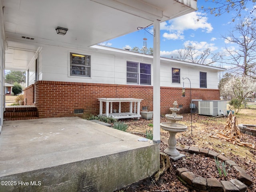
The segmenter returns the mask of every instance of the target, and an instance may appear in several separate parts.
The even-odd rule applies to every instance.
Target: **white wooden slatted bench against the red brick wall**
[[[122,118],[140,118],[140,102],[143,99],[134,99],[134,98],[98,98],[100,101],[100,115],[106,117],[112,117],[115,119]],[[106,113],[103,113],[103,102],[106,103]],[[119,103],[118,112],[113,112],[113,102]],[[129,112],[121,112],[121,102],[130,102]],[[110,103],[110,110],[109,110]]]

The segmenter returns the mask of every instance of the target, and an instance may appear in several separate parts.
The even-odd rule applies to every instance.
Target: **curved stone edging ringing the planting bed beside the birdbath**
[[[177,147],[177,149],[182,150],[182,148],[179,147]],[[252,184],[251,176],[248,175],[243,168],[239,167],[234,161],[224,155],[212,150],[193,146],[185,146],[183,151],[190,154],[203,154],[204,156],[211,158],[217,157],[219,160],[226,162],[228,166],[233,167],[236,172],[238,172],[238,179],[232,179],[230,181],[223,180],[219,182],[216,178],[198,177],[186,168],[178,168],[176,170],[176,176],[187,188],[209,192],[245,192],[247,190],[247,186]]]

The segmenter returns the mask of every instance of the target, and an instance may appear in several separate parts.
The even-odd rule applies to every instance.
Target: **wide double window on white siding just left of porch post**
[[[151,65],[139,62],[126,62],[126,83],[151,85]]]

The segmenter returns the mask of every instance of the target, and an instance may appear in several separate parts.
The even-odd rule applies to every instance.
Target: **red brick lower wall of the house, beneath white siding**
[[[148,100],[150,100],[151,109],[153,110],[152,86],[54,81],[38,81],[35,86],[36,107],[38,108],[40,118],[81,116],[74,114],[74,109],[80,108],[84,109],[84,116],[99,114],[100,104],[97,98],[144,99],[140,103],[141,110],[142,106],[148,105]],[[24,96],[26,98],[29,94],[24,94]],[[219,100],[219,98],[219,90],[192,89],[192,99]],[[172,104],[175,100],[179,105],[183,105],[181,113],[190,112],[190,89],[186,89],[186,96],[182,97],[182,88],[161,87],[161,114],[169,113],[169,108],[173,106]],[[113,108],[118,109],[118,106],[113,104]],[[122,112],[127,112],[128,108],[128,103],[122,103]]]

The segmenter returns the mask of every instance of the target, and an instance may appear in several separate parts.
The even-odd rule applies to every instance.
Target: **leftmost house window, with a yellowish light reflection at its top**
[[[70,53],[70,76],[91,76],[91,56]]]

